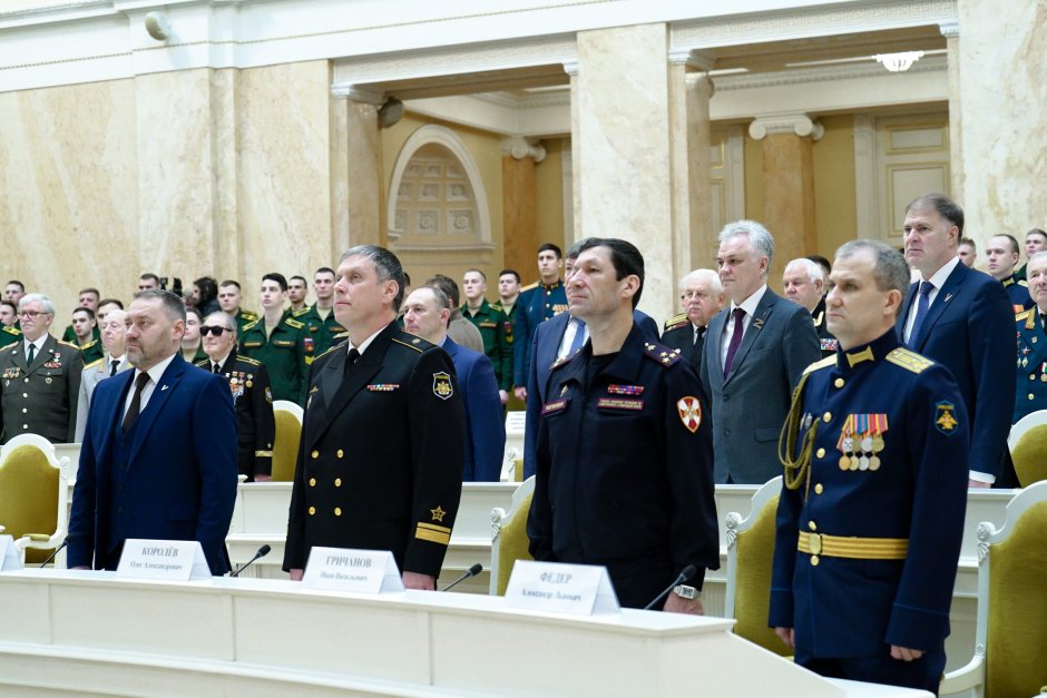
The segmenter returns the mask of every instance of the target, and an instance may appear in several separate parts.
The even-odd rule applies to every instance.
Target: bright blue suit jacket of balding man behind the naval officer
[[[498,482],[506,453],[506,422],[495,367],[486,354],[443,342],[443,351],[454,363],[458,386],[466,412],[466,458],[463,482]]]

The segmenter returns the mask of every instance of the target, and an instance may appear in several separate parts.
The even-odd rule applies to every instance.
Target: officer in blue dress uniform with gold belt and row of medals
[[[823,676],[937,692],[967,498],[967,411],[941,364],[899,345],[909,267],[836,253],[835,357],[811,365],[780,442],[770,625]]]

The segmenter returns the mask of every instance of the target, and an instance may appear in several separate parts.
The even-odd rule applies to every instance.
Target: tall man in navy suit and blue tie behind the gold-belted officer
[[[952,372],[970,420],[970,486],[1015,486],[1005,455],[1015,407],[1015,315],[1004,286],[960,264],[963,209],[943,194],[906,207],[906,260],[920,272],[898,316],[898,336]]]

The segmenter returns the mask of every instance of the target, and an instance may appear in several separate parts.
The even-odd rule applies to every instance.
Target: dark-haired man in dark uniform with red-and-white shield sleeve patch
[[[663,610],[701,613],[704,571],[720,566],[707,402],[679,353],[634,321],[643,278],[629,243],[583,244],[568,297],[589,341],[549,376],[527,533],[537,560],[605,566],[625,607],[693,564]]]

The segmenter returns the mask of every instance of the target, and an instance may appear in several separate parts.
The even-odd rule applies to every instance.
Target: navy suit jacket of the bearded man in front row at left
[[[95,387],[69,520],[69,567],[104,569],[111,512],[115,429],[135,379],[124,371]],[[214,574],[228,571],[225,537],[236,500],[236,415],[225,381],[176,354],[138,417],[128,454],[127,538],[197,540]]]

